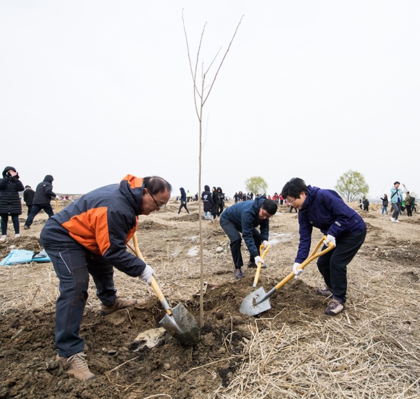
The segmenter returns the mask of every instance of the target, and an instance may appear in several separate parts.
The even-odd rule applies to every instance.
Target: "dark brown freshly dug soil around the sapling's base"
[[[204,295],[204,326],[199,344],[192,347],[182,346],[166,334],[158,346],[139,349],[135,337],[158,327],[165,316],[157,299],[109,316],[99,316],[88,307],[81,335],[90,370],[97,378],[86,384],[64,374],[55,361],[53,309],[10,309],[0,316],[0,398],[130,398],[127,391],[196,398],[220,384],[227,386],[255,329],[255,318],[239,313],[244,295],[253,291],[250,281],[225,283]],[[299,302],[295,301],[297,294]],[[199,302],[197,297],[186,303],[197,321]],[[278,323],[301,323],[297,315],[314,321],[325,307],[323,298],[302,281],[283,287],[271,304],[265,317],[276,317]]]

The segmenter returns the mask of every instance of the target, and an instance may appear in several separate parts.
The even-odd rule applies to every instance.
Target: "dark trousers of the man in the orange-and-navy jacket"
[[[55,308],[55,346],[59,356],[69,358],[83,351],[80,323],[87,300],[89,275],[97,287],[97,297],[105,306],[116,302],[113,266],[102,255],[95,255],[78,244],[61,225],[50,219],[41,232],[40,242],[51,258],[59,279]]]

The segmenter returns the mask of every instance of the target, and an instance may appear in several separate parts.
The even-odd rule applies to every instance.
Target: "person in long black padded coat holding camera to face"
[[[19,180],[19,174],[14,167],[5,167],[3,179],[0,180],[0,215],[1,237],[0,241],[6,241],[8,216],[12,217],[15,237],[20,237],[19,215],[22,214],[19,192],[25,190]]]

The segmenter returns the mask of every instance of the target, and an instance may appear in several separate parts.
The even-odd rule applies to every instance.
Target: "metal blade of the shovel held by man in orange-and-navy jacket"
[[[171,309],[172,315],[166,314],[159,322],[169,334],[174,335],[183,345],[196,345],[200,338],[200,330],[195,318],[186,307],[179,303]]]

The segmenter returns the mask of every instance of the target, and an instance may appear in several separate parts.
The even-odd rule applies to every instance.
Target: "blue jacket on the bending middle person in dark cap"
[[[221,214],[221,221],[230,221],[242,233],[242,238],[252,258],[258,256],[258,248],[253,240],[253,228],[259,225],[262,241],[268,240],[269,219],[262,221],[258,217],[262,202],[265,200],[265,197],[256,197],[253,201],[238,202],[226,208]]]

